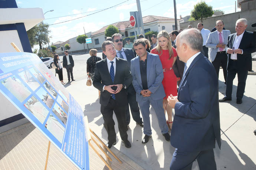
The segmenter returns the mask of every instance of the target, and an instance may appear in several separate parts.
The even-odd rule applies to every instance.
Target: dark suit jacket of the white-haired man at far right
[[[236,33],[229,35],[226,51],[228,48],[233,48],[235,38]],[[255,38],[253,37],[252,32],[244,31],[241,43],[238,48],[243,50],[243,54],[237,54],[237,64],[239,64],[239,67],[246,67],[247,70],[251,70],[252,53],[255,52]],[[228,56],[230,61],[231,54]],[[229,64],[227,64],[227,69],[229,69]]]

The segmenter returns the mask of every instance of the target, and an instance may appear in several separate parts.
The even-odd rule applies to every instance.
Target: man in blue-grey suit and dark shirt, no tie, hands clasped
[[[131,60],[131,74],[132,84],[136,91],[136,101],[139,103],[144,121],[143,133],[145,136],[142,143],[147,143],[152,134],[149,116],[150,103],[155,110],[158,125],[165,140],[170,141],[163,108],[165,92],[162,80],[164,74],[160,58],[158,55],[146,51],[147,45],[142,39],[136,40],[133,47],[138,56]]]

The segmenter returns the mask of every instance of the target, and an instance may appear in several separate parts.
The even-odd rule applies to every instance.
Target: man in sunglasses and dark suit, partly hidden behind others
[[[116,57],[126,59],[128,61],[129,70],[131,70],[131,59],[134,58],[134,53],[133,53],[132,49],[123,48],[122,40],[123,39],[122,39],[121,34],[116,33],[116,34],[112,35],[112,42],[115,45]],[[128,96],[128,103],[131,108],[133,120],[138,125],[143,127],[142,118],[140,117],[140,108],[139,108],[138,102],[136,101],[136,92],[135,92],[132,84],[127,86],[127,96]],[[128,130],[128,126],[129,126],[129,123],[131,120],[129,105],[127,105],[127,110],[126,110],[127,130]]]

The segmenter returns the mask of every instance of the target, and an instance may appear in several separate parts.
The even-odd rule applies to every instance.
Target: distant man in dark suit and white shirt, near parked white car
[[[68,54],[68,50],[64,51],[64,56],[63,56],[63,68],[66,68],[67,73],[68,73],[68,82],[70,82],[70,75],[72,81],[75,81],[73,78],[73,67],[74,67],[74,60],[72,55]]]

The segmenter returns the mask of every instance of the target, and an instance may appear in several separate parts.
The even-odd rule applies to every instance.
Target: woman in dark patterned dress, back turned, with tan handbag
[[[89,54],[91,55],[91,57],[89,57],[87,59],[87,75],[92,79],[93,81],[93,76],[94,76],[94,71],[95,71],[95,64],[97,61],[100,61],[101,60],[101,57],[97,57],[97,50],[96,49],[91,49],[89,51]],[[99,96],[101,95],[101,91],[99,91]]]

